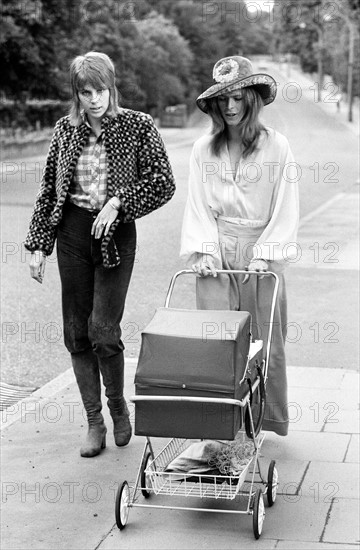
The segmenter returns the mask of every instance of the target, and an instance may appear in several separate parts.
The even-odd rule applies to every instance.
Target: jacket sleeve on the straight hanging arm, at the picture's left
[[[42,250],[46,256],[49,256],[53,251],[56,239],[56,227],[51,225],[50,215],[56,204],[55,182],[59,152],[58,127],[59,122],[55,126],[50,142],[40,188],[36,196],[29,230],[24,242],[27,250],[31,252]]]

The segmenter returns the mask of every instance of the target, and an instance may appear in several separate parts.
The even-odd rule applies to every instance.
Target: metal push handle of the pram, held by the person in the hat
[[[236,275],[256,275],[256,276],[264,276],[264,277],[273,277],[274,278],[274,288],[273,288],[273,296],[271,300],[271,306],[270,306],[270,314],[269,314],[269,333],[268,333],[268,339],[266,344],[266,357],[265,357],[265,372],[264,372],[264,378],[267,379],[267,373],[269,368],[269,357],[270,357],[270,348],[271,348],[271,341],[272,341],[272,329],[273,329],[273,321],[274,321],[274,313],[275,313],[275,305],[276,305],[276,298],[278,294],[279,289],[279,277],[274,273],[273,271],[248,271],[245,269],[216,269],[216,273],[224,273],[224,274],[236,274]],[[164,307],[168,308],[170,304],[170,299],[174,290],[174,286],[176,283],[176,279],[180,277],[181,275],[197,275],[195,271],[192,269],[182,269],[181,271],[177,271],[174,273],[174,275],[171,278],[169,288],[166,294],[165,298],[165,304]]]

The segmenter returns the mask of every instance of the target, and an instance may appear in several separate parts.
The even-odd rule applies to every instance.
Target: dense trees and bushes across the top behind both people
[[[358,18],[359,0],[285,0],[273,12],[251,11],[245,0],[2,0],[2,108],[6,100],[68,100],[69,63],[89,50],[113,59],[122,104],[154,116],[193,105],[213,63],[231,54],[292,53],[316,71],[321,51],[324,70],[346,89]]]

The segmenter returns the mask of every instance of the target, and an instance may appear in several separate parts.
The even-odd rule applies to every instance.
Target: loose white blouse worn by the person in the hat
[[[257,150],[241,159],[235,177],[227,148],[219,157],[212,155],[208,134],[194,143],[180,250],[188,265],[194,263],[196,252],[204,252],[204,243],[214,243],[215,264],[221,267],[219,216],[239,224],[239,231],[242,226],[264,227],[254,258],[286,264],[298,256],[301,168],[294,162],[286,137],[267,130]]]

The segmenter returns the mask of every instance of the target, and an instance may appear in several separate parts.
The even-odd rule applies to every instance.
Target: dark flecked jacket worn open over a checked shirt
[[[120,222],[141,218],[168,202],[175,183],[165,147],[152,118],[142,112],[121,109],[115,117],[102,119],[108,158],[107,199],[116,196],[121,209],[101,248],[105,267],[120,263],[112,235]],[[77,161],[90,133],[81,123],[61,118],[55,126],[40,189],[36,197],[25,247],[51,254],[56,228]]]

